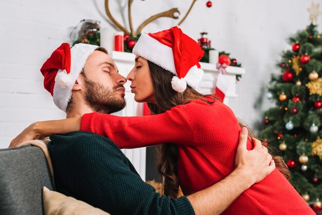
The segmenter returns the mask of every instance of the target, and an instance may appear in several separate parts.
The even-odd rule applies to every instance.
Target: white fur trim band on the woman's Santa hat
[[[132,52],[176,75],[172,48],[143,33]]]

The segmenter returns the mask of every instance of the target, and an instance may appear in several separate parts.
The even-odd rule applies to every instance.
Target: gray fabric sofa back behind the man
[[[43,214],[43,186],[53,189],[40,148],[0,149],[0,214]]]

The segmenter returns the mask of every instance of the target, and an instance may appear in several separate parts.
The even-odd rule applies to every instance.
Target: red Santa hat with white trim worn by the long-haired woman
[[[133,53],[173,73],[171,86],[180,93],[185,91],[187,84],[196,89],[204,74],[199,64],[204,51],[178,27],[143,33]]]

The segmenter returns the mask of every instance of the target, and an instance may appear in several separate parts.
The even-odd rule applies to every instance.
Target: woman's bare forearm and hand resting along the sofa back
[[[17,147],[27,140],[36,139],[39,135],[50,136],[53,134],[65,134],[72,131],[79,131],[80,121],[81,117],[73,117],[68,119],[34,122],[10,142],[9,148]]]

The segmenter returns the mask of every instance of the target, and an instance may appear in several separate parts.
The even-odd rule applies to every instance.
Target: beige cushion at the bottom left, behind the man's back
[[[93,214],[107,215],[109,213],[88,205],[85,202],[68,197],[62,193],[51,191],[47,187],[43,188],[43,206],[45,215],[62,214]]]

